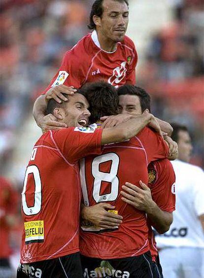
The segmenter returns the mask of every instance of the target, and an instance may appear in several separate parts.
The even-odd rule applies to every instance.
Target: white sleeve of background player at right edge
[[[198,168],[193,175],[194,207],[198,216],[204,214],[204,171]]]

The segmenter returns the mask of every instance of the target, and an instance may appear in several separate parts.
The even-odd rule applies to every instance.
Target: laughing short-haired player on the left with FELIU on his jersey
[[[111,93],[115,88],[111,85]],[[79,258],[81,191],[78,160],[101,154],[101,145],[127,140],[154,117],[142,115],[114,128],[86,128],[90,112],[86,98],[75,93],[68,102],[48,103],[48,113],[68,128],[45,132],[35,143],[22,192],[21,264],[18,278],[83,277]],[[154,120],[154,119],[153,119]]]

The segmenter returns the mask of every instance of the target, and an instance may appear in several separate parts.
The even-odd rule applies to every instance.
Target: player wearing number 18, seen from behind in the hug
[[[87,84],[80,90],[90,101],[93,121],[107,113],[112,114],[112,106],[117,104],[114,99],[118,100],[117,93],[109,95],[103,89],[96,90],[96,86]],[[127,121],[124,123],[128,125]],[[80,252],[85,277],[97,273],[103,275],[101,277],[106,277],[105,273],[115,277],[151,277],[146,213],[122,201],[120,191],[127,180],[136,183],[140,190],[139,181],[148,181],[147,165],[153,160],[168,157],[168,154],[163,138],[146,127],[131,140],[104,146],[102,155],[80,161],[84,204],[93,206],[108,202],[115,206],[110,211],[123,217],[120,226],[115,225],[113,230],[82,225]],[[87,207],[84,207],[82,217],[91,220],[87,219],[86,213]],[[156,217],[152,211],[151,216],[153,219]]]

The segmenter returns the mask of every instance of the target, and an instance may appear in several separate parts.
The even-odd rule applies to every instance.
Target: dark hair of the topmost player
[[[118,2],[125,2],[127,6],[129,7],[129,1],[128,0],[114,0]],[[88,28],[90,30],[96,29],[96,24],[94,23],[93,17],[94,15],[99,16],[102,18],[102,13],[103,13],[103,6],[102,6],[103,0],[95,0],[92,8],[91,8],[91,13],[90,13],[90,22],[88,25]]]

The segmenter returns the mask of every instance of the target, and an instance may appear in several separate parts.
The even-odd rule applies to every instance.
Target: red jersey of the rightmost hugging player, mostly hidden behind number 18
[[[148,166],[148,186],[151,189],[152,199],[162,210],[167,212],[175,210],[175,173],[169,159],[150,163]],[[158,249],[151,224],[149,221],[147,223],[150,252],[152,260],[155,261]]]

